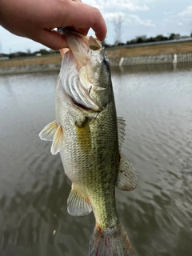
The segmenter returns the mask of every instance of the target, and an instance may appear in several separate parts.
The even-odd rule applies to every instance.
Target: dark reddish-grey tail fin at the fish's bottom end
[[[90,238],[88,256],[134,256],[130,239],[122,224],[106,230],[100,230],[96,226]]]

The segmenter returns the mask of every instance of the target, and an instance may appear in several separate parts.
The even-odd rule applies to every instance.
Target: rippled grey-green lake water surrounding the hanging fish
[[[58,73],[0,76],[0,255],[85,256],[93,214],[73,217],[70,181],[38,133],[54,121]],[[192,251],[192,64],[112,69],[124,154],[138,188],[117,190],[139,256]]]

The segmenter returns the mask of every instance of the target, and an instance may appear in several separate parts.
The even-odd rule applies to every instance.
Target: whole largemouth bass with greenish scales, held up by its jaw
[[[50,151],[60,153],[66,176],[72,182],[68,213],[94,213],[88,255],[134,256],[118,218],[115,188],[134,190],[138,174],[122,154],[126,123],[116,114],[106,50],[92,36],[67,27],[58,32],[65,36],[69,49],[62,50],[55,121],[39,137],[52,141]]]

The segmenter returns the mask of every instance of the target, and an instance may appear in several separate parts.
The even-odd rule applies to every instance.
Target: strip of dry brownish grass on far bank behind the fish
[[[192,42],[173,42],[167,44],[134,46],[134,47],[118,47],[106,48],[109,58],[134,57],[143,55],[161,55],[161,54],[187,54],[192,53]],[[61,63],[60,54],[30,57],[30,58],[14,58],[8,60],[0,60],[0,68],[12,66],[30,66]]]

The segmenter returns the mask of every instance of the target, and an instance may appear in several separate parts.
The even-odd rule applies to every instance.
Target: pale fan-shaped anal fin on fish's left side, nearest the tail
[[[78,193],[78,190],[72,186],[69,198],[67,200],[67,210],[70,215],[83,216],[90,214],[92,208],[89,200],[82,197],[82,194]]]

